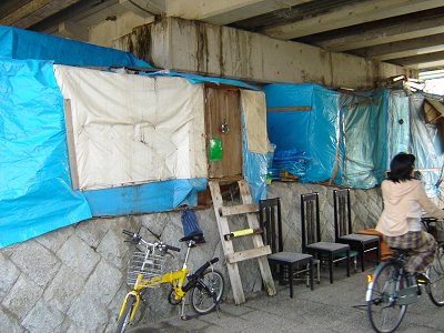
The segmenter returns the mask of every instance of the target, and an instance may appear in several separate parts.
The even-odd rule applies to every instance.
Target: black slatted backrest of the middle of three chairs
[[[301,194],[302,252],[306,245],[321,242],[319,193]]]

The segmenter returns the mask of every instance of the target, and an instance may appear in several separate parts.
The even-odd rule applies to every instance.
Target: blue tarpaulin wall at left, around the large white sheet
[[[71,190],[63,99],[54,80],[53,61],[89,67],[150,67],[118,50],[0,27],[0,206],[6,212],[0,218],[0,248],[91,215],[195,205],[196,192],[206,186],[205,179],[115,188],[109,192]]]

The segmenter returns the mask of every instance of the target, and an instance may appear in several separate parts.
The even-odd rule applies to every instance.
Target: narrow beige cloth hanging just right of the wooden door
[[[245,117],[246,142],[249,151],[265,154],[266,141],[266,103],[262,91],[241,90],[242,110]]]

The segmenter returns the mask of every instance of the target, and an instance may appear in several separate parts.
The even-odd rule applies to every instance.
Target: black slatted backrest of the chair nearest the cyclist
[[[333,190],[334,238],[353,233],[350,190]]]

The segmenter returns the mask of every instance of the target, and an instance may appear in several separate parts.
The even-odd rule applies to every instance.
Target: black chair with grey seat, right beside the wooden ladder
[[[290,284],[290,297],[293,297],[293,280],[305,274],[307,286],[313,290],[313,265],[317,263],[317,281],[320,280],[319,262],[313,262],[313,255],[283,250],[283,231],[281,219],[281,200],[279,198],[259,201],[259,221],[263,230],[264,243],[272,251],[268,259],[272,273],[281,283]]]

